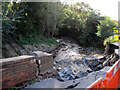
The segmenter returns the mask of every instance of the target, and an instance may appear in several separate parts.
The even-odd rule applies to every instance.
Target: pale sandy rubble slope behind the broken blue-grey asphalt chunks
[[[102,55],[102,51],[95,47],[85,48],[74,42],[64,40],[59,40],[59,43],[62,47],[57,52],[55,60],[69,59],[74,61],[76,59],[82,59],[82,57],[86,55],[95,55],[96,57]]]

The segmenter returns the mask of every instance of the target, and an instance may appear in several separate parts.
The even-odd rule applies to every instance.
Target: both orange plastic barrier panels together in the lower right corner
[[[118,88],[118,86],[120,86],[120,60],[107,71],[104,82],[101,77],[87,87],[87,90],[93,90],[95,88]]]

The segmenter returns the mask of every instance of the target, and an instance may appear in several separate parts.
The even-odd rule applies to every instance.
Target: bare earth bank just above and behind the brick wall
[[[3,46],[2,58],[30,54],[33,51],[44,51],[48,53],[53,53],[55,50],[58,50],[58,47],[59,47],[58,45],[49,46],[45,44],[36,44],[36,45],[7,44]]]

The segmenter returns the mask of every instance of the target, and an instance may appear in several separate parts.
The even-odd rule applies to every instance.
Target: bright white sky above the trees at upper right
[[[61,0],[68,3],[84,2],[93,9],[100,10],[101,16],[109,16],[118,21],[118,2],[120,0]]]

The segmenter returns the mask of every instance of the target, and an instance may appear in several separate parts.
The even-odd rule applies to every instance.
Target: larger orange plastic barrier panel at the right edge
[[[120,60],[117,61],[106,73],[105,88],[118,88],[120,85]]]

